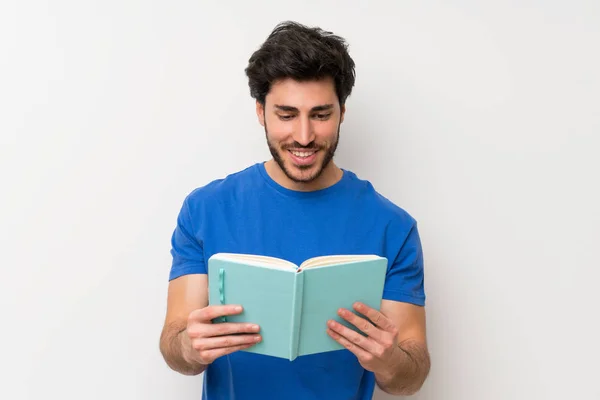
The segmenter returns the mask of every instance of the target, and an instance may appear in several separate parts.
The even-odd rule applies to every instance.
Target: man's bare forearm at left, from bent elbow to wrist
[[[192,346],[186,334],[185,326],[170,326],[160,337],[160,352],[167,365],[183,375],[198,375],[207,365],[191,357]]]

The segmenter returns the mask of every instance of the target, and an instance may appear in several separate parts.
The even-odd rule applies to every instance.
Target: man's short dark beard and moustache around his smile
[[[333,160],[333,156],[335,155],[335,151],[337,150],[337,146],[338,146],[338,143],[340,140],[340,125],[341,124],[338,124],[335,140],[329,146],[318,144],[315,142],[311,142],[307,146],[302,146],[298,142],[292,142],[289,144],[277,146],[275,143],[273,143],[269,140],[269,132],[267,129],[266,120],[265,120],[265,136],[267,138],[267,145],[269,146],[269,151],[271,152],[271,156],[273,156],[273,160],[275,160],[277,165],[279,165],[279,168],[283,171],[283,173],[293,182],[308,183],[308,182],[312,182],[315,179],[317,179],[318,177],[320,177],[321,174],[323,173],[323,171],[325,170],[325,168],[329,165],[329,163],[331,163],[331,160]],[[313,164],[313,165],[308,165],[308,166],[300,165],[300,166],[291,167],[291,166],[286,165],[286,163],[284,161],[284,157],[283,157],[283,153],[287,152],[289,148],[303,149],[303,150],[318,150],[320,152],[324,151],[325,157],[323,158],[323,161],[321,161],[320,165]],[[318,163],[318,161],[317,161],[317,163]],[[306,175],[306,176],[294,175],[294,172],[291,170],[291,168],[294,168],[294,169],[299,169],[300,171],[308,171],[312,168],[315,168],[315,166],[316,166],[315,172],[311,175]]]

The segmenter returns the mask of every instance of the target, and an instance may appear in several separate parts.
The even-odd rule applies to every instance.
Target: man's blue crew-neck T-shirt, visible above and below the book
[[[169,279],[206,274],[219,252],[279,257],[300,264],[328,254],[378,254],[389,260],[384,299],[425,304],[423,252],[406,211],[351,171],[333,186],[293,191],[264,163],[195,189],[184,200],[171,240]],[[348,350],[287,359],[238,351],[205,371],[202,398],[371,399],[373,373]]]

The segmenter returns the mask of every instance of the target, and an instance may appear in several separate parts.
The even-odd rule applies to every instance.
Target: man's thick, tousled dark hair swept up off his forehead
[[[246,75],[250,95],[261,104],[278,79],[308,81],[331,77],[343,105],[355,81],[354,61],[343,38],[293,21],[275,27],[248,60]]]

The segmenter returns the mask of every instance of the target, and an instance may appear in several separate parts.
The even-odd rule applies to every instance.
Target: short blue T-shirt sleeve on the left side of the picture
[[[198,232],[194,229],[194,218],[190,215],[189,197],[177,216],[177,225],[171,237],[173,257],[169,280],[187,274],[206,274],[204,251]]]

